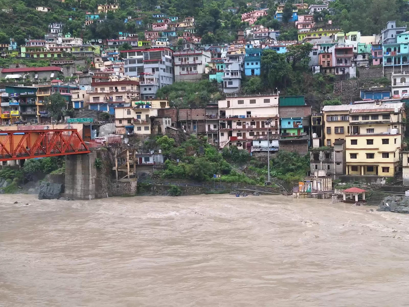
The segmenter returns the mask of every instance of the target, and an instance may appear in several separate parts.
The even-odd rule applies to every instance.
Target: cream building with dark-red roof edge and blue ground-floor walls
[[[115,114],[118,107],[130,107],[131,101],[139,99],[139,81],[105,81],[92,82],[92,90],[86,91],[90,96],[90,110]],[[86,102],[84,101],[84,104]]]

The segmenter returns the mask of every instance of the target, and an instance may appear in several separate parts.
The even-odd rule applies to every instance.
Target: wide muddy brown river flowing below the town
[[[408,306],[409,215],[328,203],[0,195],[0,306]]]

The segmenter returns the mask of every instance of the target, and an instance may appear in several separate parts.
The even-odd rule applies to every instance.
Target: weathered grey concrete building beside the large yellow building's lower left
[[[346,174],[345,140],[336,140],[333,146],[310,149],[311,172],[324,170],[327,175]],[[334,179],[335,176],[334,176]]]

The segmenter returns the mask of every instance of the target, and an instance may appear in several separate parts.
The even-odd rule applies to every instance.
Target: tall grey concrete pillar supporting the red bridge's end
[[[65,156],[65,196],[72,199],[94,199],[96,153]]]

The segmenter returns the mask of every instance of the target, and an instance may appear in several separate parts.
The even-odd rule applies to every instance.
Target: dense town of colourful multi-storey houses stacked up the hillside
[[[402,161],[408,146],[409,31],[391,20],[371,36],[342,32],[328,15],[320,17],[330,12],[328,2],[293,4],[287,17],[297,39],[285,41],[279,30],[257,23],[271,11],[262,7],[241,14],[247,27],[235,41],[222,44],[202,43],[193,17],[153,13],[149,17],[155,22],[147,25],[142,39],[141,33],[119,32],[117,39],[85,41],[64,33],[63,23],[50,23],[44,39],[18,46],[11,38],[1,46],[4,59],[49,61],[43,67],[15,62],[1,68],[1,124],[49,126],[92,117],[115,127],[91,131],[84,140],[109,134],[141,144],[155,135],[193,134],[220,151],[235,147],[264,161],[284,151],[309,155],[305,176],[407,185],[409,169]],[[83,27],[103,23],[100,17],[117,9],[117,3],[98,5],[86,13]],[[238,7],[227,11],[236,15]],[[283,23],[283,11],[285,3],[277,5],[274,20]],[[126,22],[140,25],[142,20],[128,16]],[[267,76],[269,54],[287,56],[294,67],[304,61],[304,74],[330,78],[332,100],[312,103],[312,95],[289,95],[285,87],[271,88],[270,83],[260,92],[245,90],[244,82]],[[161,92],[204,80],[218,93],[193,106],[183,95],[175,100]],[[61,118],[52,118],[48,109],[55,93],[65,101]],[[154,154],[136,164],[163,163]]]

